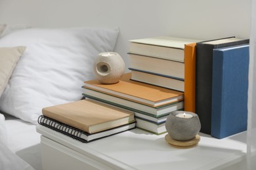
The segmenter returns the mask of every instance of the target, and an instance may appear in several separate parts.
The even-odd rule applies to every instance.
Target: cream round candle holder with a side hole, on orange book
[[[116,52],[102,52],[95,59],[93,72],[100,83],[114,84],[123,76],[125,62]]]

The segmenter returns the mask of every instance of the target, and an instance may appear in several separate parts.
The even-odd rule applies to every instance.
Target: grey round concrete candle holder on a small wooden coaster
[[[201,124],[198,114],[177,110],[167,116],[165,127],[172,139],[188,141],[196,137],[201,129]]]

